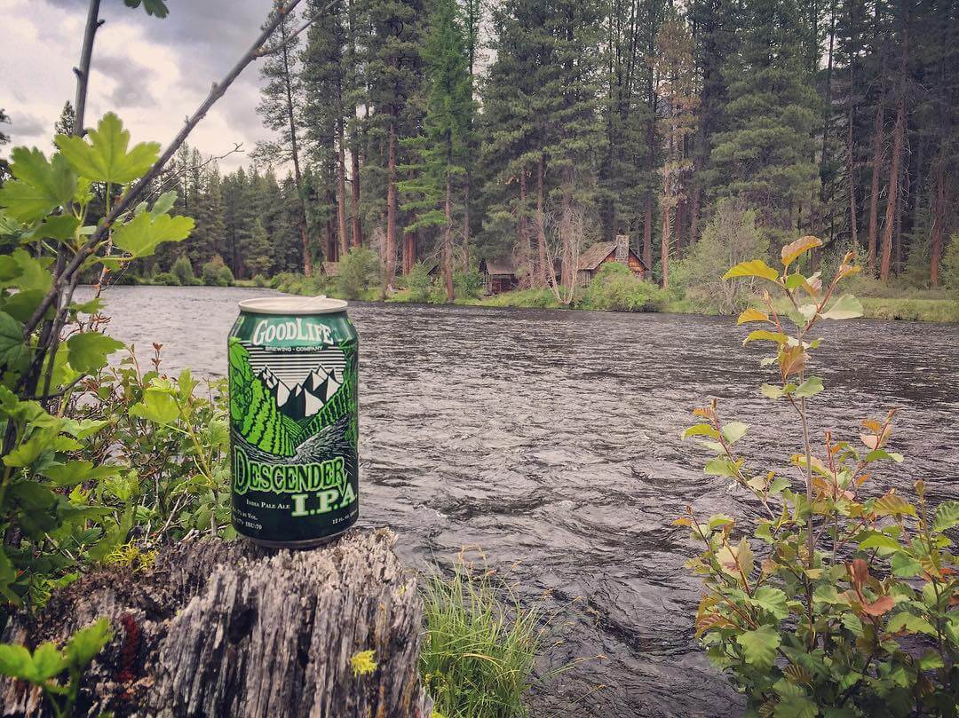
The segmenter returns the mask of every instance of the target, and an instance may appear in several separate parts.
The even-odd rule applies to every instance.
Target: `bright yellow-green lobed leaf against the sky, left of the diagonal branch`
[[[112,112],[104,115],[96,129],[88,129],[86,136],[89,143],[65,134],[58,134],[54,141],[70,166],[93,182],[127,184],[145,174],[159,157],[157,142],[141,142],[127,151],[129,130]]]

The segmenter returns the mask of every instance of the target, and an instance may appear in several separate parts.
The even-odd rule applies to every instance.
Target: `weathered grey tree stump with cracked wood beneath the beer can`
[[[419,680],[422,606],[387,530],[310,551],[246,541],[165,548],[152,568],[84,576],[3,639],[61,645],[105,615],[114,636],[75,715],[430,718]],[[351,659],[372,650],[376,667]],[[3,716],[45,715],[39,691],[0,683]]]

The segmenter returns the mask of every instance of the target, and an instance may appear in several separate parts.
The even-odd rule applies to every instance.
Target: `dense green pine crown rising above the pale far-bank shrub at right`
[[[714,138],[714,197],[742,197],[760,224],[784,240],[816,185],[812,131],[819,99],[809,84],[796,6],[744,0],[738,50],[724,67],[728,129]]]

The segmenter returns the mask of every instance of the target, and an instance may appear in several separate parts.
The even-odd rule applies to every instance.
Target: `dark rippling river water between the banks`
[[[236,302],[265,290],[127,288],[105,294],[109,333],[164,367],[222,376]],[[544,716],[722,716],[741,702],[692,641],[693,553],[670,521],[737,514],[679,440],[689,410],[716,396],[753,425],[743,446],[798,449],[792,417],[761,398],[760,348],[728,318],[357,303],[361,336],[361,523],[392,526],[424,567],[463,545],[555,612]],[[906,455],[880,483],[923,477],[956,498],[959,327],[856,321],[822,328],[828,393],[813,426],[855,435],[864,414],[899,407]],[[783,440],[783,436],[789,438]],[[778,438],[778,442],[776,441]],[[556,641],[556,645],[552,645]]]

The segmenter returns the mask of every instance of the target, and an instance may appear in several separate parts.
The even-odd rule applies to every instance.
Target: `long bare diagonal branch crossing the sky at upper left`
[[[93,0],[93,2],[96,1],[97,0]],[[43,301],[40,302],[33,315],[24,325],[23,335],[25,338],[29,338],[30,335],[33,334],[36,326],[43,319],[43,315],[50,308],[50,305],[53,304],[59,293],[69,283],[70,277],[81,268],[86,258],[93,254],[97,244],[104,239],[105,234],[110,230],[117,218],[129,210],[130,207],[135,205],[136,201],[140,198],[144,191],[150,187],[150,183],[163,171],[163,167],[167,164],[167,162],[170,161],[170,158],[174,156],[180,145],[186,141],[187,136],[193,131],[193,128],[197,127],[199,121],[206,116],[206,113],[209,111],[210,107],[212,107],[213,104],[223,96],[223,93],[226,92],[226,88],[237,79],[244,69],[246,69],[246,65],[260,57],[258,55],[260,48],[263,47],[264,43],[269,39],[269,36],[273,34],[274,30],[276,30],[276,27],[280,24],[280,20],[283,18],[283,16],[292,12],[292,10],[299,5],[299,3],[300,0],[291,0],[280,12],[277,12],[276,16],[270,20],[269,23],[267,23],[263,32],[257,36],[256,40],[254,40],[250,49],[246,51],[246,54],[240,58],[239,61],[237,61],[237,63],[229,70],[229,72],[226,73],[222,81],[213,83],[213,86],[210,88],[210,93],[206,96],[206,99],[199,105],[193,115],[187,119],[183,128],[177,133],[173,142],[170,143],[167,149],[163,151],[159,159],[156,160],[152,168],[150,168],[150,171],[140,177],[140,179],[138,179],[136,183],[129,188],[129,191],[123,197],[119,198],[117,203],[113,206],[113,209],[110,210],[109,214],[106,215],[103,221],[101,221],[96,231],[90,236],[86,243],[83,243],[82,247],[77,251],[69,264],[64,267],[63,271],[59,272],[57,279],[54,282],[54,286],[50,291],[47,292],[47,295],[43,297]]]

